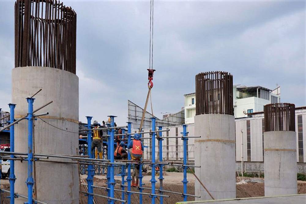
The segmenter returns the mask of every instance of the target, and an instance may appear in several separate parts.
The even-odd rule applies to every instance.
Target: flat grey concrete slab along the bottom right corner
[[[223,200],[210,200],[210,201],[190,201],[190,202],[177,202],[177,204],[188,203],[212,203],[212,204],[305,204],[306,194],[299,195],[285,195],[278,197],[253,197],[253,198],[235,198],[235,199],[223,199]]]

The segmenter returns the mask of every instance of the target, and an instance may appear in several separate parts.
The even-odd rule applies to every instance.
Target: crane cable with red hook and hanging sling
[[[140,127],[139,127],[139,132],[141,132],[143,123],[144,123],[144,117],[146,114],[146,110],[147,110],[147,105],[148,105],[148,100],[150,97],[150,102],[151,102],[151,111],[152,111],[152,116],[153,115],[153,106],[152,106],[152,97],[151,97],[151,89],[153,87],[153,73],[155,71],[155,69],[153,69],[153,13],[154,13],[154,0],[150,0],[150,50],[149,50],[149,69],[148,72],[148,93],[147,93],[147,99],[146,99],[146,103],[144,105],[144,109],[142,112],[142,118],[141,118],[141,122],[140,122]]]

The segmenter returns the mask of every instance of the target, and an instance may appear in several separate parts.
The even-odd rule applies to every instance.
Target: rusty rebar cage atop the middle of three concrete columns
[[[228,72],[202,72],[196,75],[196,115],[234,115],[233,75]]]

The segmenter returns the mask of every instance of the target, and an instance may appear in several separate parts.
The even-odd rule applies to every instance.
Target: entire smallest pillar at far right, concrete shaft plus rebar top
[[[264,106],[265,196],[297,194],[294,104]]]

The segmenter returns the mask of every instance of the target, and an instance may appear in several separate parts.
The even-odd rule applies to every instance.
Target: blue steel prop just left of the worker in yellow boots
[[[87,116],[87,128],[90,129],[91,128],[91,116]],[[92,157],[92,152],[91,152],[91,131],[89,130],[87,132],[87,154],[89,158],[93,158]],[[93,172],[94,168],[92,166],[92,164],[88,165],[88,169],[87,169],[87,184],[88,184],[88,204],[93,204]]]

